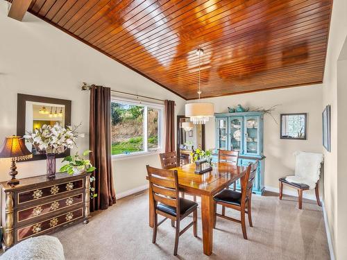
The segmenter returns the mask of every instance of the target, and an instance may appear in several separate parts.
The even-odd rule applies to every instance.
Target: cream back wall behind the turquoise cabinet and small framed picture
[[[204,99],[205,101],[214,103],[214,110],[217,113],[228,112],[228,107],[236,107],[237,104],[250,107],[251,110],[257,107],[268,109],[273,105],[279,105],[272,113],[277,123],[271,116],[264,115],[264,155],[266,156],[264,181],[265,186],[270,189],[278,189],[278,178],[294,172],[293,153],[296,150],[322,153],[321,85],[208,98]],[[307,112],[307,140],[280,139],[280,114],[297,112]],[[214,120],[209,121],[205,129],[206,148],[214,148]],[[305,194],[312,196],[314,193],[310,191]]]

